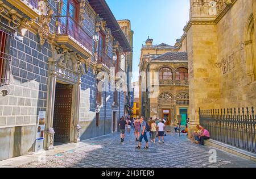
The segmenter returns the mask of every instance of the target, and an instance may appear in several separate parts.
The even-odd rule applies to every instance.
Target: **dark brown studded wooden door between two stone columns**
[[[54,142],[68,143],[71,133],[73,85],[56,83],[53,114]]]

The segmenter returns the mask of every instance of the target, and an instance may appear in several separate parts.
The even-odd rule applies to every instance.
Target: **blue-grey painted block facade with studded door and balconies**
[[[0,160],[35,152],[41,122],[44,149],[118,130],[132,48],[105,1],[1,0],[0,15]]]

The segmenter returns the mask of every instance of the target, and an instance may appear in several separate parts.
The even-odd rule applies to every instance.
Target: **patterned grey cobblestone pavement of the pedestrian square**
[[[126,134],[121,143],[119,134],[82,141],[79,147],[59,155],[46,156],[19,167],[83,167],[83,168],[185,168],[185,167],[256,167],[256,163],[229,153],[217,151],[217,162],[209,163],[212,147],[192,144],[187,136],[167,134],[165,143],[150,143],[149,149],[135,149],[134,134]],[[144,147],[145,143],[142,143]]]

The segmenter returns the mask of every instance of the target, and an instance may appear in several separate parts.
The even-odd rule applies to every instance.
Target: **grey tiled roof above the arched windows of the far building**
[[[188,54],[186,52],[167,52],[155,57],[152,61],[188,61]]]

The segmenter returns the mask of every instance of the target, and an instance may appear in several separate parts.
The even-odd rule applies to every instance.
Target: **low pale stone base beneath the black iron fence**
[[[205,145],[215,147],[215,148],[221,149],[222,151],[226,151],[228,153],[232,153],[233,155],[240,156],[244,159],[248,159],[248,160],[256,162],[256,154],[254,154],[254,153],[243,151],[242,149],[239,149],[239,148],[233,147],[231,145],[227,145],[227,144],[224,144],[219,141],[212,140],[212,139],[205,140],[204,143],[205,143]]]

